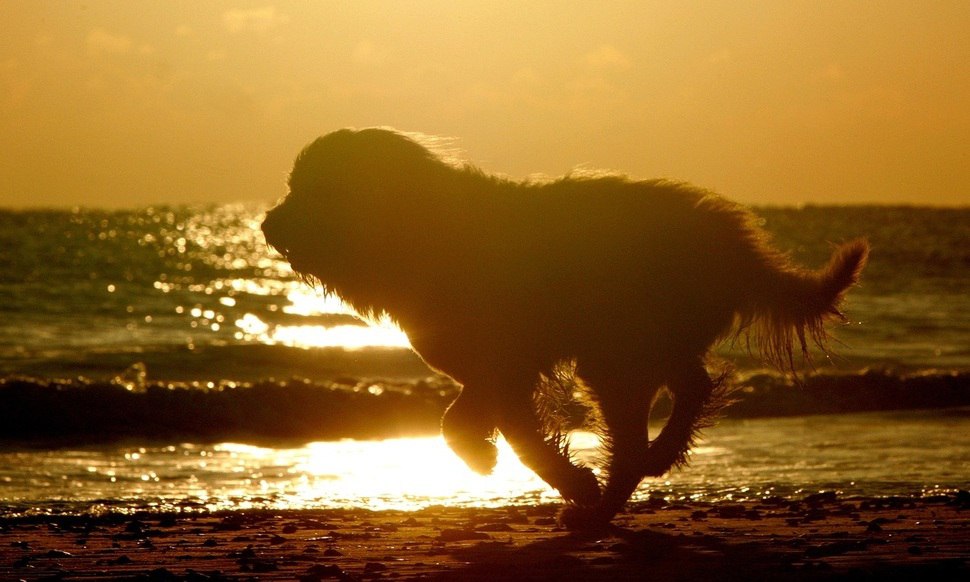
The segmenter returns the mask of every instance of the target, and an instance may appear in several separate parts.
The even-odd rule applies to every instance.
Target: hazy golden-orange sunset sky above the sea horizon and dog
[[[970,2],[0,2],[0,207],[285,194],[342,127],[749,204],[970,204]]]

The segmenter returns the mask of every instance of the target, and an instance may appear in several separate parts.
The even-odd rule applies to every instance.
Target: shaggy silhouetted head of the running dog
[[[448,171],[392,130],[330,133],[297,156],[289,193],[267,214],[263,234],[294,270],[352,299],[368,277],[387,276],[402,252],[419,246],[427,192]]]

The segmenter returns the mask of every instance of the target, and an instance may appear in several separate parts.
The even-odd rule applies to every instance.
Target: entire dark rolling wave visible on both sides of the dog
[[[970,406],[970,372],[739,378],[732,418]],[[111,380],[0,380],[0,442],[77,446],[112,441],[266,443],[383,439],[438,432],[459,388],[447,378],[299,378],[157,382],[136,364]]]

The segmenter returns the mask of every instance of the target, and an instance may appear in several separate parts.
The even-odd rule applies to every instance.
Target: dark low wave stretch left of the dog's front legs
[[[0,440],[74,446],[393,438],[436,431],[456,391],[434,378],[142,383],[135,368],[108,382],[0,381]]]

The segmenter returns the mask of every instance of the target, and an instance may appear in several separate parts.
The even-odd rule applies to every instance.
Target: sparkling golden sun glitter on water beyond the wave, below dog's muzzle
[[[405,333],[387,315],[358,313],[336,294],[307,285],[266,245],[260,232],[264,214],[262,208],[226,206],[194,209],[185,216],[148,209],[138,216],[143,229],[151,232],[139,233],[137,244],[157,248],[163,265],[151,286],[166,301],[152,308],[128,307],[129,313],[145,311],[133,325],[146,331],[151,326],[153,337],[159,337],[163,326],[184,326],[187,319],[188,329],[181,330],[189,334],[189,345],[410,348]],[[104,288],[121,294],[114,282]],[[166,310],[167,302],[174,302],[174,309]]]

